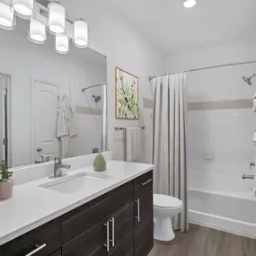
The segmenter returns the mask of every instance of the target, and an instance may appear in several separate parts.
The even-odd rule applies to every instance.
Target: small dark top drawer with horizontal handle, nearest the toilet
[[[153,171],[146,172],[146,174],[138,177],[134,181],[135,199],[139,198],[144,194],[147,194],[149,192],[148,190],[152,190],[153,192]]]

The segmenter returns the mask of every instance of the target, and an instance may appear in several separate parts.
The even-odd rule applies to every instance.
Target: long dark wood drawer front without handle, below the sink
[[[133,190],[133,181],[130,181],[66,214],[62,224],[63,244],[68,243],[75,236],[82,234],[90,226],[133,199]]]

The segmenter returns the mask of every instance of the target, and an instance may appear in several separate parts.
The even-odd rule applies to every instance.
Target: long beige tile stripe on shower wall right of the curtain
[[[242,109],[252,109],[252,99],[228,100],[218,102],[188,102],[189,111]]]

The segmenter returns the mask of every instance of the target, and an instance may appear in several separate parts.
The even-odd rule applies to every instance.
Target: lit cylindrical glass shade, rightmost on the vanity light
[[[78,19],[74,23],[74,40],[75,47],[86,48],[88,46],[88,23],[84,19]]]

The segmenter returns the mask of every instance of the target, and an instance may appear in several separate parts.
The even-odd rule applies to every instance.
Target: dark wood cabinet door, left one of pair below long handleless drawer
[[[107,256],[107,219],[87,229],[84,233],[79,234],[69,243],[62,247],[63,256]]]

